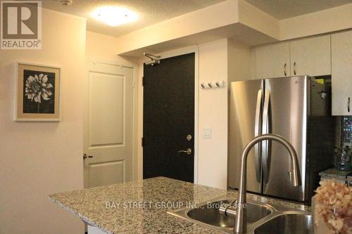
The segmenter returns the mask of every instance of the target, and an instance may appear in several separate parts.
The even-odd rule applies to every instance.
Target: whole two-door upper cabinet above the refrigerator
[[[330,35],[258,46],[256,79],[331,74]]]

